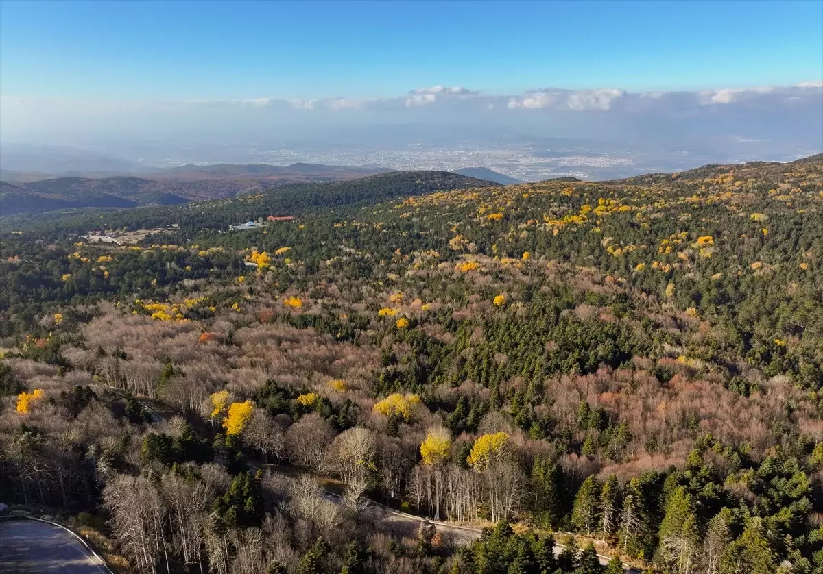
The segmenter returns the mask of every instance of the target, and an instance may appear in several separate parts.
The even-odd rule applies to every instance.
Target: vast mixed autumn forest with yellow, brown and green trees
[[[470,182],[5,220],[0,500],[121,572],[823,572],[823,158]]]

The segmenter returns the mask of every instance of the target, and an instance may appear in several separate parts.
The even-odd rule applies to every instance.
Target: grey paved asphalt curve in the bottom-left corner
[[[109,574],[71,533],[28,520],[0,521],[3,574]]]

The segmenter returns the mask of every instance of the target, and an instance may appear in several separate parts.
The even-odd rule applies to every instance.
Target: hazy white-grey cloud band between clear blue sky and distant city
[[[823,146],[823,81],[795,86],[628,92],[616,87],[487,94],[430,86],[387,98],[314,100],[74,101],[5,96],[0,139],[67,137],[328,137],[330,130],[393,125],[482,127],[530,136],[625,138],[740,137]]]

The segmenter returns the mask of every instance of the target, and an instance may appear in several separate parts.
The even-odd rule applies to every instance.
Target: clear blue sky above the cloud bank
[[[788,86],[823,2],[0,2],[0,93],[387,97]]]

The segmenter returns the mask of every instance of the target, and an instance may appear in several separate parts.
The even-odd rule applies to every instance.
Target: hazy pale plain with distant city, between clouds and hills
[[[752,160],[791,161],[819,153],[817,146],[780,145],[741,137],[702,141],[595,141],[536,137],[433,138],[393,141],[94,141],[73,146],[4,143],[3,170],[44,174],[146,174],[186,164],[298,162],[392,170],[456,171],[485,167],[522,181],[571,176],[625,178]]]

